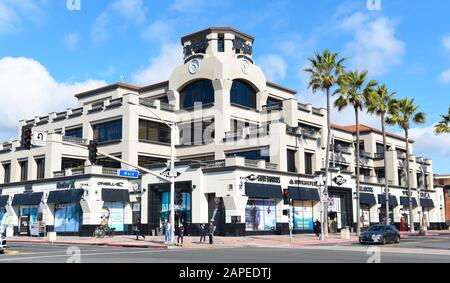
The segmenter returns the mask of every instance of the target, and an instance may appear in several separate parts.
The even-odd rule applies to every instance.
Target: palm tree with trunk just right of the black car
[[[409,197],[409,223],[410,230],[414,232],[414,215],[412,213],[412,193],[411,182],[409,179],[409,129],[411,122],[416,124],[425,124],[426,114],[418,112],[419,105],[414,105],[414,99],[404,98],[396,100],[393,107],[389,109],[389,117],[386,119],[388,125],[397,125],[405,131],[405,144],[406,144],[406,183],[408,184],[408,197]],[[420,198],[420,196],[419,196]]]

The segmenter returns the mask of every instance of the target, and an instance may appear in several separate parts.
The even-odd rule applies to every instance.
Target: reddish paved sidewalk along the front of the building
[[[176,243],[177,237],[175,237]],[[214,237],[214,244],[210,245],[199,242],[199,237],[184,237],[184,244],[180,246],[167,246],[164,244],[164,237],[146,237],[138,241],[134,236],[116,236],[113,238],[83,238],[83,237],[58,237],[54,243],[46,238],[33,237],[13,237],[7,239],[10,243],[40,243],[54,245],[95,245],[106,247],[132,247],[132,248],[156,248],[156,249],[214,249],[214,248],[238,248],[238,247],[289,247],[289,235],[283,236],[248,236],[248,237]],[[208,239],[207,239],[208,241]],[[320,241],[315,235],[301,234],[293,235],[292,246],[339,244],[357,242],[358,238],[352,235],[350,240],[341,240],[340,235],[332,235],[325,241]]]

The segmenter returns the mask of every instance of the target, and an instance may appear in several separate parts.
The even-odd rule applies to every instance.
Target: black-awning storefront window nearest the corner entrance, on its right
[[[245,210],[246,232],[275,232],[276,204],[282,199],[281,186],[247,183],[245,192],[249,196]]]

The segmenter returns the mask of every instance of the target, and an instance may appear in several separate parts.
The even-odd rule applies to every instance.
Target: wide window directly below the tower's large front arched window
[[[194,121],[180,126],[180,140],[183,145],[203,145],[214,141],[214,119]]]

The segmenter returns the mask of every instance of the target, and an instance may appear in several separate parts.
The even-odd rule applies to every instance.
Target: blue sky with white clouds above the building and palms
[[[415,98],[428,115],[411,130],[416,154],[433,158],[436,173],[450,173],[450,137],[432,134],[450,106],[448,1],[381,0],[381,10],[366,0],[80,0],[81,10],[66,2],[0,0],[3,140],[17,136],[20,119],[73,106],[74,92],[165,80],[181,58],[180,36],[233,26],[256,37],[256,63],[270,80],[297,89],[302,102],[324,105],[302,70],[325,48],[399,97]],[[340,124],[353,119],[333,113]],[[379,125],[376,117],[362,120]]]

